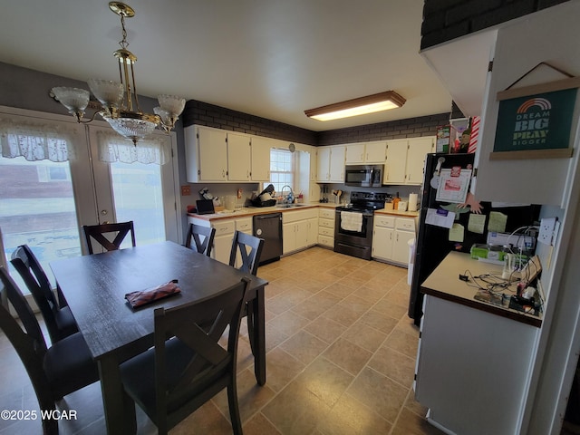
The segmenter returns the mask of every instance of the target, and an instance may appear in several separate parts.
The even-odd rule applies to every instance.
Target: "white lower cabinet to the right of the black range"
[[[400,266],[409,264],[409,240],[415,238],[415,219],[374,216],[372,256]]]

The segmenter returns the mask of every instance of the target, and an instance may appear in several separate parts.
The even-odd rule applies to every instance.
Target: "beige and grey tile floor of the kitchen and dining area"
[[[253,434],[440,434],[411,388],[418,329],[407,316],[407,270],[314,247],[261,266],[266,278],[267,382],[254,378],[245,324],[238,399]],[[38,410],[14,349],[0,334],[0,409]],[[64,434],[102,434],[99,383],[66,397]],[[229,434],[218,394],[172,434]],[[139,433],[156,433],[138,410]],[[0,434],[42,433],[35,421],[0,420]]]

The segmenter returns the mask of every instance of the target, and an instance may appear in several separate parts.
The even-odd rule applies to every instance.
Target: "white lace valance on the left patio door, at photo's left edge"
[[[2,157],[29,161],[75,159],[76,132],[50,121],[13,121],[0,118]]]

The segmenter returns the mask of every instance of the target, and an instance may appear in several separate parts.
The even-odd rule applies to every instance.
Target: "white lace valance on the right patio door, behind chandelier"
[[[140,163],[164,165],[169,161],[170,145],[169,140],[150,138],[139,140],[137,146],[131,140],[119,136],[113,131],[98,131],[99,160],[112,163]]]

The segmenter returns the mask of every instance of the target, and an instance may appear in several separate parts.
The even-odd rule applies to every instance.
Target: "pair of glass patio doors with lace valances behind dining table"
[[[24,293],[9,262],[20,245],[33,250],[54,286],[49,263],[82,255],[82,225],[133,220],[138,245],[180,241],[170,137],[156,133],[123,147],[109,127],[61,118],[0,112],[0,255]]]

